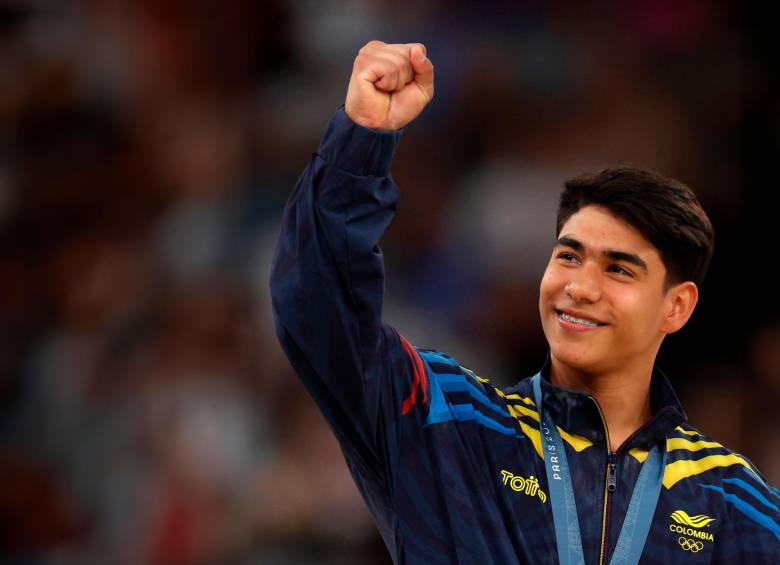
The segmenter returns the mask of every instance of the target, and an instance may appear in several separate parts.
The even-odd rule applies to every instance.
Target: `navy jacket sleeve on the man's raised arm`
[[[425,378],[416,351],[382,322],[378,241],[398,203],[389,167],[400,136],[338,109],[285,207],[270,281],[290,363],[348,462],[374,477],[386,476]]]

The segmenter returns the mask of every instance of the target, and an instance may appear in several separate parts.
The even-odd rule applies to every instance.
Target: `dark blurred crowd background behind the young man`
[[[774,35],[729,3],[571,4],[0,2],[0,561],[389,562],[267,282],[377,38],[436,65],[393,166],[387,320],[497,385],[529,376],[563,181],[679,178],[716,251],[658,364],[780,482]]]

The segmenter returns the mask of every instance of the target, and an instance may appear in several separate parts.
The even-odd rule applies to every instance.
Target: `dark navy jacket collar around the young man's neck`
[[[604,443],[606,435],[595,398],[583,391],[554,385],[550,382],[550,353],[542,367],[542,395],[544,409],[549,410],[555,422],[565,431],[585,437],[594,443]],[[523,393],[533,397],[531,380],[522,382]],[[669,379],[657,366],[650,381],[650,409],[652,417],[629,437],[625,449],[648,447],[666,438],[674,428],[687,420],[677,394]]]

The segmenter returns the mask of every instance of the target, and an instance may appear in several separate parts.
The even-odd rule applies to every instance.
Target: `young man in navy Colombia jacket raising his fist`
[[[777,490],[687,424],[654,367],[712,255],[683,184],[632,168],[566,183],[539,293],[549,356],[509,389],[383,323],[390,162],[432,97],[422,45],[360,50],[271,275],[279,339],[394,562],[780,563]]]

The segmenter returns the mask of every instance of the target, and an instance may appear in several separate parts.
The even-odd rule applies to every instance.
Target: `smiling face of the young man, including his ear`
[[[553,363],[598,374],[652,367],[666,334],[696,304],[696,285],[664,290],[658,250],[608,209],[589,205],[561,229],[539,289]]]

